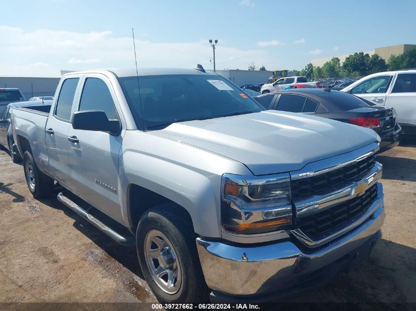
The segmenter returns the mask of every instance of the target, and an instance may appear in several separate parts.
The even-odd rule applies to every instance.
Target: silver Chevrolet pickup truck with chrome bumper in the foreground
[[[384,222],[374,131],[264,111],[201,66],[66,74],[12,132],[33,197],[58,181],[160,302],[289,297],[365,260]]]

